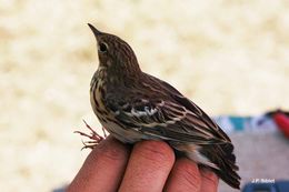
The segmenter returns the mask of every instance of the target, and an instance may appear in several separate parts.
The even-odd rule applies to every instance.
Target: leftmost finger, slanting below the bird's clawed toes
[[[108,138],[94,148],[67,192],[117,191],[129,159],[129,146]]]

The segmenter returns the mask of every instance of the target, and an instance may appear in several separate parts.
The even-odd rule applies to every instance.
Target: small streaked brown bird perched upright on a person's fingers
[[[220,127],[172,85],[142,72],[126,41],[89,27],[99,57],[90,101],[103,128],[124,143],[163,140],[239,189],[233,145]]]

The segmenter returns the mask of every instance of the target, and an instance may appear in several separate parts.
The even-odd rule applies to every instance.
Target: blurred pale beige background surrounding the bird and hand
[[[97,69],[87,22],[127,40],[146,72],[209,114],[289,109],[286,0],[0,0],[0,190],[68,183]]]

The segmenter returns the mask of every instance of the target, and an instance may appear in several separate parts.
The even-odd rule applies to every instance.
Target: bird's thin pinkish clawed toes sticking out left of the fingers
[[[74,131],[74,133],[79,133],[82,137],[89,138],[90,141],[82,141],[83,143],[83,148],[82,149],[93,149],[96,145],[98,145],[102,140],[104,140],[108,135],[106,133],[104,128],[102,128],[103,131],[103,137],[101,137],[100,134],[98,134],[84,120],[83,120],[86,127],[90,130],[90,133],[84,133],[81,131]]]

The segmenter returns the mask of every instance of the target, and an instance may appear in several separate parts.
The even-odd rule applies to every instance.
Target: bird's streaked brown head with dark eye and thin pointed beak
[[[140,72],[137,57],[126,41],[88,26],[97,39],[99,67],[106,68],[108,75],[129,77]]]

